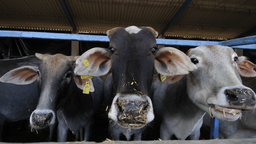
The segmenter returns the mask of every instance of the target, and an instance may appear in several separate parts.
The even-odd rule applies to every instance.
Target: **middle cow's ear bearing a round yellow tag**
[[[75,64],[75,75],[106,75],[111,69],[111,54],[106,48],[91,48]]]

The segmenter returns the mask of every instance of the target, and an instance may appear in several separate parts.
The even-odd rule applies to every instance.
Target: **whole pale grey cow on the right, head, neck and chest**
[[[238,57],[232,48],[219,45],[192,48],[187,55],[196,70],[174,84],[153,83],[153,106],[163,105],[156,109],[162,109],[162,140],[198,139],[205,113],[235,121],[242,110],[254,110],[256,106],[254,91],[240,78],[256,76],[253,63]]]

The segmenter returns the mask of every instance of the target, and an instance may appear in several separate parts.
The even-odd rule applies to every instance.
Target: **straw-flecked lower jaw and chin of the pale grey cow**
[[[216,117],[220,120],[235,121],[242,117],[242,110],[210,105],[209,114],[211,117]]]

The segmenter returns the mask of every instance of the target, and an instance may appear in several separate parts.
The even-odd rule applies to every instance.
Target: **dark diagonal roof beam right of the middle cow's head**
[[[174,24],[175,21],[177,21],[177,19],[180,17],[180,15],[186,10],[186,8],[189,6],[189,4],[192,2],[193,0],[186,0],[182,6],[180,7],[180,9],[176,12],[176,14],[174,14],[173,18],[167,23],[166,27],[161,31],[160,34],[164,35],[166,33],[166,31]]]

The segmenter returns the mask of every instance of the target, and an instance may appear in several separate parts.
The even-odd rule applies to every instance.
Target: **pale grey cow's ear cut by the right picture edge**
[[[236,63],[238,65],[238,71],[240,75],[244,77],[256,76],[256,71],[254,70],[256,68],[256,65],[246,60],[246,57],[239,56],[238,61],[236,61]]]

